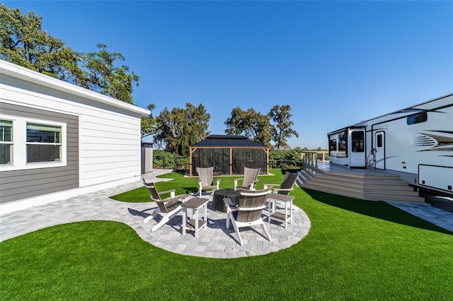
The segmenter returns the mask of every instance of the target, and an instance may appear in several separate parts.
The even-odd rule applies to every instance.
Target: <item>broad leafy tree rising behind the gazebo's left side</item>
[[[164,108],[156,117],[159,130],[154,141],[159,146],[165,144],[166,151],[178,155],[188,155],[189,146],[209,136],[207,131],[210,114],[200,104],[198,107],[185,104],[185,109],[174,107],[171,111]]]

